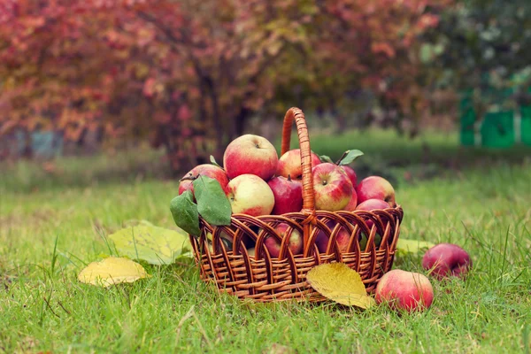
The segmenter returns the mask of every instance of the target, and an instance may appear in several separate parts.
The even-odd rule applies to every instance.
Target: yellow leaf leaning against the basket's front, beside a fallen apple
[[[367,296],[361,276],[344,263],[330,263],[315,266],[306,279],[319,294],[339,304],[355,305],[366,309],[375,304]]]

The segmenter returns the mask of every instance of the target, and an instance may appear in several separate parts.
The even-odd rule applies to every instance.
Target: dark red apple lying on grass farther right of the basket
[[[472,267],[472,259],[461,247],[452,243],[439,243],[422,257],[422,267],[431,270],[435,278],[450,276],[464,278]]]

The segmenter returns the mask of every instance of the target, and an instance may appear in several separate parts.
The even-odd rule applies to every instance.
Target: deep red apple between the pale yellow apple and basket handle
[[[289,175],[288,178],[276,176],[267,181],[267,184],[273,190],[273,215],[300,212],[303,209],[303,183],[301,181],[293,181]]]

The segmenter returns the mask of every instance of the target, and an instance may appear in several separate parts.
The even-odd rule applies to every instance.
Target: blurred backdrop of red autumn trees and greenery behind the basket
[[[7,188],[181,177],[291,106],[360,176],[528,163],[531,2],[0,3]]]

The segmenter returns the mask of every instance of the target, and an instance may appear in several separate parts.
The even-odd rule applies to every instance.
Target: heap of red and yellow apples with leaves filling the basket
[[[334,163],[327,156],[319,158],[312,152],[315,209],[330,212],[373,211],[396,206],[395,190],[389,181],[380,176],[369,176],[358,183],[356,173],[349,165],[360,155],[363,153],[359,150],[347,150]],[[257,217],[301,212],[302,173],[299,149],[288,150],[279,158],[273,144],[266,138],[259,135],[239,136],[227,145],[223,168],[212,159],[212,164],[197,165],[185,174],[179,185],[179,197],[173,201],[173,218],[190,235],[199,235],[197,213],[204,219],[207,219],[205,215],[210,216],[216,224],[216,221],[227,218],[230,222],[231,213]],[[205,198],[206,191],[211,200],[203,203],[203,208],[210,209],[201,211],[199,205],[197,212],[197,193]],[[283,236],[288,228],[287,224],[280,223],[275,231]],[[360,237],[366,238],[366,235]],[[227,248],[232,248],[231,241],[228,238],[223,240]],[[346,250],[349,241],[350,233],[346,230],[337,235],[339,250]],[[362,248],[365,247],[366,239],[359,242]],[[376,239],[375,242],[378,246],[381,240]],[[327,243],[324,234],[319,234],[315,241],[319,252],[326,251]],[[279,256],[281,242],[278,239],[268,237],[265,245],[272,258]],[[248,253],[253,255],[252,241],[246,240],[246,246]],[[303,235],[293,230],[289,250],[294,256],[299,255],[303,253],[303,246]]]

